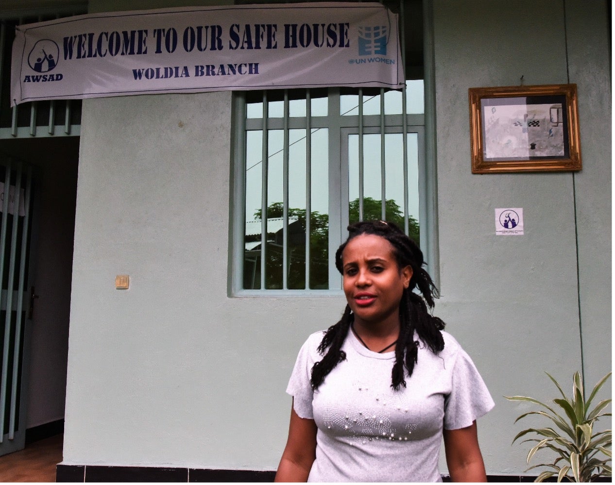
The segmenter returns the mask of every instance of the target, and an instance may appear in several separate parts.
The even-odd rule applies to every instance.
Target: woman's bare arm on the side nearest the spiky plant
[[[476,421],[460,430],[444,430],[448,473],[453,482],[486,482],[485,463],[478,448]]]

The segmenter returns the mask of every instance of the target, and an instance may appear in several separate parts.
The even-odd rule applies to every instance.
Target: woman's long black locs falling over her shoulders
[[[393,246],[398,269],[401,271],[406,266],[412,268],[410,285],[403,290],[399,304],[400,331],[399,339],[395,344],[395,364],[391,371],[391,387],[399,390],[400,385],[406,387],[404,368],[408,371],[408,377],[410,377],[418,361],[419,341],[415,341],[415,331],[419,339],[432,352],[438,353],[444,349],[444,340],[440,330],[444,328],[445,323],[440,318],[431,315],[427,310],[427,305],[430,308],[434,307],[434,296],[438,296],[438,290],[429,274],[423,269],[425,264],[423,252],[395,224],[384,221],[364,221],[348,226],[348,232],[348,239],[339,246],[335,253],[335,266],[340,273],[343,274],[342,253],[344,248],[351,239],[361,234],[374,234],[383,237]],[[415,288],[421,293],[422,298],[413,291]],[[325,380],[327,374],[339,362],[346,360],[346,352],[341,350],[341,346],[353,320],[354,315],[350,306],[346,305],[341,320],[330,326],[325,332],[318,346],[318,351],[323,358],[312,367],[312,388],[317,389]]]

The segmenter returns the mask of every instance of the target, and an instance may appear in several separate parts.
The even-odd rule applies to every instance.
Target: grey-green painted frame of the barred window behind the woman
[[[403,9],[403,3],[402,3]],[[433,12],[431,0],[423,0],[423,50],[424,50],[424,114],[407,114],[406,122],[403,123],[403,114],[386,115],[387,117],[399,116],[402,122],[402,133],[410,133],[410,127],[423,128],[423,146],[421,147],[421,134],[419,134],[419,221],[421,227],[421,249],[423,250],[427,263],[427,270],[432,276],[435,285],[440,285],[440,268],[438,258],[438,231],[437,231],[437,167],[436,167],[436,141],[435,141],[435,71],[434,71],[434,32],[433,32]],[[328,95],[328,114],[339,114],[339,88],[330,87]],[[405,95],[405,90],[403,91]],[[245,252],[245,133],[248,127],[253,124],[252,119],[246,120],[246,93],[234,92],[232,96],[232,143],[231,143],[231,190],[229,191],[229,264],[228,264],[228,296],[229,297],[245,297],[245,296],[339,296],[343,294],[341,290],[341,275],[338,274],[335,268],[335,251],[339,244],[343,242],[345,237],[342,235],[346,232],[347,207],[346,215],[343,214],[343,203],[335,204],[329,202],[329,288],[328,290],[311,290],[309,288],[303,290],[272,290],[260,288],[258,290],[249,290],[243,288],[244,281],[244,252]],[[405,99],[404,99],[405,102]],[[263,108],[263,117],[267,116],[266,109]],[[331,111],[333,110],[333,111]],[[358,116],[335,116],[336,122],[331,123],[329,116],[326,117],[326,127],[329,130],[328,135],[328,153],[329,153],[329,178],[328,178],[328,194],[340,194],[345,192],[347,195],[348,187],[342,183],[344,173],[343,154],[341,150],[341,136],[343,128],[357,128],[357,122],[351,124],[353,119]],[[305,119],[305,118],[303,118]],[[339,119],[342,121],[340,122]],[[421,119],[422,122],[418,122]],[[319,120],[319,117],[311,117],[308,124],[309,128],[319,127],[314,120]],[[263,123],[263,119],[255,119],[254,123]],[[287,122],[284,125],[284,122]],[[278,126],[278,124],[282,124]],[[362,129],[368,128],[371,132],[372,127],[381,127],[380,115],[363,116]],[[392,128],[397,127],[397,124],[387,124],[384,133],[390,132]],[[292,118],[280,118],[267,120],[266,129],[292,129],[306,128],[305,122],[293,120]],[[262,127],[261,127],[262,129]],[[339,133],[339,136],[336,136]],[[421,149],[423,148],[423,149]],[[338,163],[331,163],[331,157],[338,157]],[[347,171],[347,164],[346,164]],[[347,173],[345,177],[347,181]],[[345,188],[344,188],[345,187]],[[339,195],[342,200],[343,195]],[[346,197],[347,198],[347,197]],[[287,199],[287,197],[285,197]],[[285,201],[287,202],[287,200]],[[347,203],[346,203],[347,205]]]

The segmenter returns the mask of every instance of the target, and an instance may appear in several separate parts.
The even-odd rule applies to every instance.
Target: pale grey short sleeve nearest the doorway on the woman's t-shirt
[[[315,337],[318,338],[317,342],[315,342]],[[293,396],[293,409],[295,409],[297,416],[304,419],[314,419],[314,412],[312,411],[314,391],[310,378],[315,357],[318,355],[316,348],[320,339],[322,339],[322,333],[312,334],[303,344],[286,388],[286,392]]]

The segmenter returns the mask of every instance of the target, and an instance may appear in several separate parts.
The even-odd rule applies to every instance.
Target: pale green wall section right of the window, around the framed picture
[[[611,368],[606,21],[603,2],[590,9],[570,0],[434,2],[438,311],[496,400],[479,423],[486,465],[494,472],[522,470],[527,451],[509,446],[524,428],[512,425],[514,417],[527,406],[503,395],[556,397],[543,371],[568,388],[581,370],[581,329],[588,383]],[[582,172],[470,173],[467,90],[518,85],[522,76],[526,85],[577,83]],[[523,208],[525,235],[494,234],[500,207]]]

